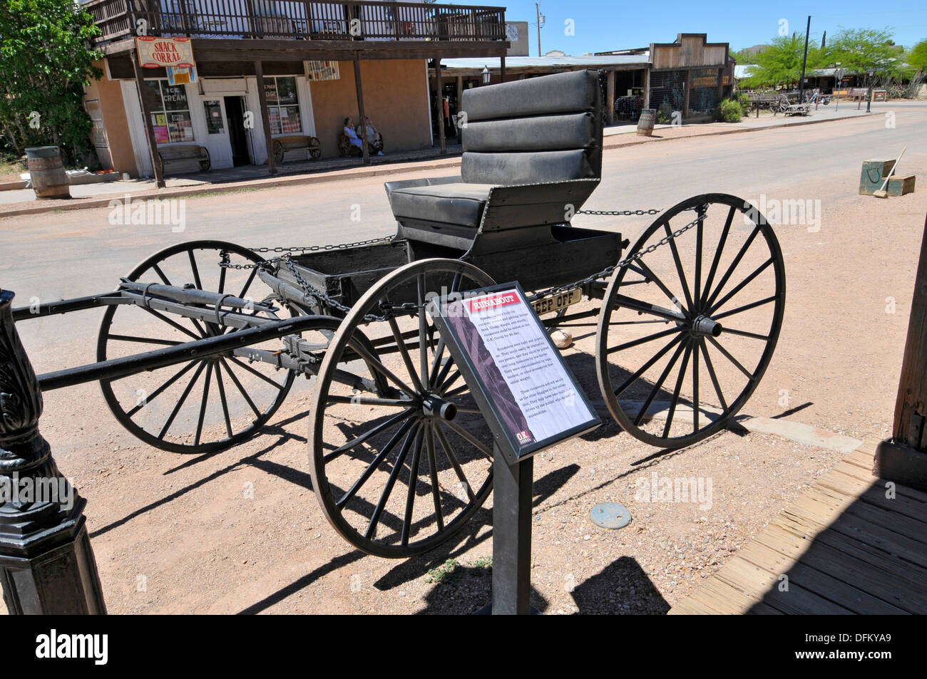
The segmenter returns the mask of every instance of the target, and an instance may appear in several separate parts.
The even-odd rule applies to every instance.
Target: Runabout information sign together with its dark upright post
[[[533,456],[602,421],[518,283],[432,305],[430,316],[493,436],[491,612],[527,615]]]

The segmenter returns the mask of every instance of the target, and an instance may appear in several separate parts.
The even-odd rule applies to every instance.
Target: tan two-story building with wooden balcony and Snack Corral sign
[[[159,182],[153,146],[200,145],[212,168],[267,163],[273,173],[274,138],[311,135],[322,157],[337,157],[347,117],[372,119],[389,150],[430,146],[431,117],[443,106],[429,93],[429,65],[449,57],[504,59],[509,46],[502,7],[422,0],[83,6],[100,28],[95,42],[104,53],[104,75],[85,95],[97,155],[116,171]],[[137,39],[150,37],[181,38],[195,69],[171,82],[167,68],[146,68]]]

